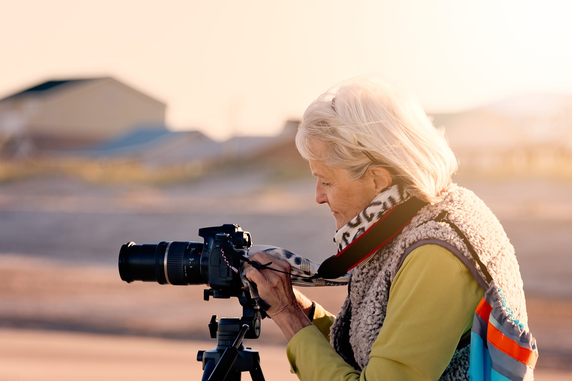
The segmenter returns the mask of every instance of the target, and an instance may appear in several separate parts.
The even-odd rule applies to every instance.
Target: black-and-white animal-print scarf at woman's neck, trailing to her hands
[[[396,205],[401,204],[410,198],[411,195],[405,192],[405,190],[403,190],[402,186],[399,184],[395,184],[383,192],[380,192],[379,195],[376,196],[375,199],[371,202],[371,204],[364,208],[363,211],[359,213],[359,215],[355,216],[344,227],[336,231],[336,234],[333,237],[333,242],[336,244],[337,252],[342,251],[345,247],[351,244],[352,241],[366,232],[368,228],[379,221]],[[311,278],[317,274],[318,268],[320,267],[319,263],[296,255],[287,249],[268,245],[252,245],[252,247],[248,249],[248,253],[245,256],[248,257],[249,254],[256,252],[268,253],[279,259],[288,261],[291,266],[292,284],[296,286],[315,287],[345,285],[348,284],[349,277],[352,273],[352,271],[349,271],[345,275],[336,279],[323,279],[320,277]],[[359,265],[361,266],[366,264],[370,258],[371,257],[364,260]],[[241,271],[241,279],[243,280],[245,287],[251,291],[253,298],[257,300],[258,294],[256,289],[251,287],[250,282],[244,276],[244,264],[243,271]]]

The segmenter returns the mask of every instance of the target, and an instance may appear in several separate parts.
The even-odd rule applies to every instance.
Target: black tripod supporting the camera
[[[205,289],[205,300],[209,296],[229,297],[212,289]],[[242,318],[210,318],[210,337],[218,340],[215,349],[198,351],[197,361],[202,362],[202,381],[240,381],[242,372],[250,372],[252,381],[264,381],[260,368],[258,351],[244,348],[244,338],[257,339],[260,336],[260,311],[253,308],[247,293],[232,295],[243,305]]]

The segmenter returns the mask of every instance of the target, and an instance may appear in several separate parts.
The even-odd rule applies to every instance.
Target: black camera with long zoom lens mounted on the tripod
[[[252,246],[252,237],[237,224],[198,229],[204,243],[163,241],[157,245],[129,242],[119,253],[121,279],[157,281],[160,284],[207,284],[222,296],[243,284],[232,269],[239,268],[239,256]]]

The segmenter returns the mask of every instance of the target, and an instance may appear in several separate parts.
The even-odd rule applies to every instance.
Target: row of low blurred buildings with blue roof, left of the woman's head
[[[294,143],[298,123],[287,121],[276,136],[235,136],[224,142],[197,130],[172,131],[164,125],[145,125],[89,148],[50,151],[50,155],[100,163],[137,163],[148,169],[182,168],[187,172],[237,163],[292,165],[304,162]]]

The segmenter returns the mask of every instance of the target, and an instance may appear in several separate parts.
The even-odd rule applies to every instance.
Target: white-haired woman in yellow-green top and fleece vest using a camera
[[[527,329],[513,246],[483,201],[451,182],[456,158],[418,104],[349,82],[308,107],[296,146],[336,221],[333,265],[352,269],[348,295],[335,316],[288,275],[251,265],[245,275],[301,380],[468,379],[468,337],[491,280]],[[360,240],[375,249],[341,258]],[[268,253],[251,258],[290,271]]]

